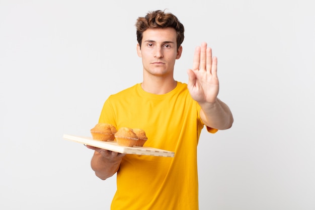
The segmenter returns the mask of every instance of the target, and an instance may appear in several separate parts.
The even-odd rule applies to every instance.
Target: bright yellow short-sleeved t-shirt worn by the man
[[[175,152],[174,158],[126,155],[111,209],[198,209],[197,144],[204,126],[199,113],[199,104],[180,82],[163,95],[136,84],[106,100],[99,122],[144,129],[145,147]]]

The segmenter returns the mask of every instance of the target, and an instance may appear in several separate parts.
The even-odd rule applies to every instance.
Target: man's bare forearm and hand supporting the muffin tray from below
[[[91,167],[95,175],[102,180],[113,176],[119,169],[122,158],[125,154],[116,153],[92,146],[87,148],[95,150],[91,160]]]

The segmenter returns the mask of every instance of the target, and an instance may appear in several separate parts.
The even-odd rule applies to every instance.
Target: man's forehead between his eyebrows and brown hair
[[[176,42],[176,31],[174,28],[146,29],[142,34],[142,42],[151,40],[155,42]]]

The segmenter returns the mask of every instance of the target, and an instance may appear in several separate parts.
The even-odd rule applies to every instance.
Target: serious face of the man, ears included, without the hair
[[[146,29],[141,49],[137,45],[137,53],[142,58],[144,74],[173,77],[175,60],[181,57],[182,46],[177,50],[173,28]]]

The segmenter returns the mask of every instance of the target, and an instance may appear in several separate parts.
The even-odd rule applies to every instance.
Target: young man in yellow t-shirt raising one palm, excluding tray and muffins
[[[99,122],[144,129],[146,147],[174,151],[175,157],[124,155],[91,146],[95,174],[105,180],[117,172],[111,209],[198,209],[197,144],[201,129],[228,129],[233,122],[217,98],[217,59],[206,43],[195,50],[188,85],[174,80],[184,26],[163,11],[138,18],[137,54],[143,82],[104,103]]]

